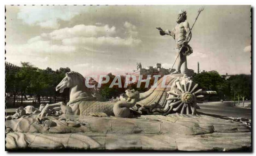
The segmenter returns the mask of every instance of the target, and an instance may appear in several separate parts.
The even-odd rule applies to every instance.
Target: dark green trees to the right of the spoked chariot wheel
[[[221,76],[217,71],[210,71],[196,74],[192,80],[204,90],[216,91],[217,95],[210,97],[215,100],[233,100],[235,102],[237,99],[239,103],[241,98],[244,105],[245,99],[252,99],[251,75],[226,76]]]

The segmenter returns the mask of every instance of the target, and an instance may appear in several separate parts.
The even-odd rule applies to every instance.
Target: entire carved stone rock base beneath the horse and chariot
[[[32,120],[22,128],[29,118],[8,121],[7,150],[251,151],[248,126],[205,115],[86,116],[78,119],[85,123],[80,127],[49,119],[57,125],[40,132]]]

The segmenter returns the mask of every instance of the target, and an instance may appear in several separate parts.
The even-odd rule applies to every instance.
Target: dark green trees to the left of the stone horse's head
[[[50,97],[50,103],[52,100],[56,102],[55,87],[65,77],[65,73],[69,71],[70,68],[68,67],[61,67],[56,71],[50,67],[41,70],[29,62],[21,62],[21,68],[18,71],[6,69],[5,92],[7,96],[8,94],[13,96],[13,105],[15,105],[16,95],[21,95],[21,104],[23,97],[28,100],[27,95],[36,96],[39,104],[43,96]]]

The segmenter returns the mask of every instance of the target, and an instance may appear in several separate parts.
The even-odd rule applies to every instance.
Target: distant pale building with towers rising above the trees
[[[142,68],[141,67],[141,63],[136,64],[136,70],[133,70],[132,73],[130,73],[131,75],[135,75],[136,77],[139,77],[139,75],[168,75],[171,72],[174,72],[175,69],[172,69],[171,72],[169,72],[169,69],[165,69],[161,67],[161,63],[155,63],[154,66],[148,66],[146,68]],[[128,75],[128,73],[125,73],[126,75]]]

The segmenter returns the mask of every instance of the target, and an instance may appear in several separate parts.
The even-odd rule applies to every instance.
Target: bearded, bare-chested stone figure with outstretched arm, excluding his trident
[[[163,31],[161,27],[157,27],[156,29],[159,30],[160,35],[170,35],[172,36],[176,41],[176,50],[177,54],[180,52],[180,48],[183,45],[182,51],[179,54],[177,61],[176,61],[176,70],[172,72],[171,74],[184,74],[184,76],[192,76],[193,70],[188,69],[187,67],[187,56],[191,53],[193,53],[192,48],[188,45],[188,42],[191,40],[192,34],[190,31],[190,27],[187,19],[187,12],[186,11],[180,11],[178,14],[177,19],[177,25],[170,31],[166,30]],[[189,34],[188,34],[189,33]],[[188,40],[185,41],[186,35],[188,35]]]

